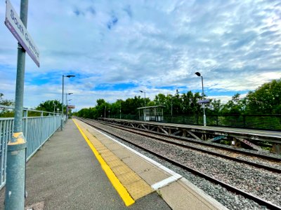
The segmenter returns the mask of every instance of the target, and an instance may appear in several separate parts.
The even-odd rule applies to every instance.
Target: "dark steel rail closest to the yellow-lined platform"
[[[81,120],[81,119],[80,119],[80,120]],[[256,196],[251,195],[251,194],[249,194],[249,193],[247,193],[247,192],[244,192],[243,190],[240,190],[240,189],[238,189],[238,188],[235,188],[235,187],[233,187],[233,186],[230,186],[228,183],[225,183],[225,182],[223,182],[223,181],[219,181],[218,179],[214,179],[214,178],[212,178],[211,176],[208,176],[207,174],[204,174],[204,173],[202,173],[202,172],[199,172],[199,171],[197,171],[197,170],[195,170],[195,169],[192,169],[192,168],[190,168],[190,167],[188,167],[188,166],[186,166],[186,165],[182,165],[180,162],[177,162],[177,161],[175,161],[175,160],[171,160],[170,158],[166,158],[166,157],[164,157],[163,155],[160,155],[159,153],[155,153],[154,151],[151,151],[151,150],[148,149],[148,148],[143,148],[142,146],[139,146],[138,144],[135,144],[135,143],[133,143],[133,142],[131,142],[131,141],[128,141],[128,140],[126,140],[126,139],[124,139],[124,138],[122,138],[122,137],[119,137],[117,134],[112,134],[112,133],[108,132],[107,130],[104,130],[104,129],[100,128],[100,127],[97,127],[97,126],[95,126],[95,125],[92,125],[91,123],[86,122],[85,120],[81,120],[81,121],[83,121],[84,123],[86,123],[86,124],[88,124],[88,125],[91,125],[92,127],[95,127],[95,128],[98,129],[98,130],[102,130],[103,132],[107,132],[108,134],[112,135],[113,137],[117,137],[117,138],[119,138],[119,139],[122,139],[123,141],[128,142],[129,144],[132,144],[133,146],[136,146],[136,147],[138,147],[138,148],[141,148],[143,151],[147,151],[148,153],[152,153],[153,155],[157,156],[158,158],[162,158],[163,160],[166,160],[167,162],[170,162],[171,164],[174,164],[174,165],[176,165],[176,166],[178,166],[178,167],[181,167],[181,168],[187,170],[188,172],[191,172],[192,174],[196,174],[196,175],[198,175],[198,176],[200,176],[200,177],[202,177],[202,178],[204,178],[204,179],[207,179],[208,181],[211,181],[212,183],[219,184],[219,185],[223,186],[224,188],[226,188],[227,190],[229,190],[230,192],[233,192],[233,193],[242,195],[242,196],[248,198],[249,200],[253,200],[253,201],[256,202],[256,203],[261,204],[262,206],[268,207],[269,209],[278,209],[278,210],[281,210],[281,207],[278,207],[277,205],[275,205],[275,204],[273,204],[273,203],[271,203],[271,202],[268,202],[268,201],[263,200],[263,199],[261,199],[261,198],[259,198],[259,197],[256,197]]]

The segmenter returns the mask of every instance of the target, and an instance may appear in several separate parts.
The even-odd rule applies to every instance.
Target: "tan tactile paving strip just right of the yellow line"
[[[114,153],[98,141],[98,134],[91,134],[91,132],[85,129],[84,123],[79,121],[77,123],[134,200],[153,192],[153,189],[148,183],[141,179],[138,174],[133,172],[126,164],[124,164],[124,162],[122,162],[122,160],[117,158]]]

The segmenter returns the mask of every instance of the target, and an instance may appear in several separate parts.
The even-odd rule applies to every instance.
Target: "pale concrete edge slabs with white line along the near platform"
[[[115,158],[121,160],[143,181],[148,183],[153,190],[157,191],[171,209],[227,209],[214,198],[184,179],[180,174],[176,174],[159,163],[150,160],[150,158],[133,151],[133,149],[99,132],[86,123],[79,120],[76,120],[76,122],[79,127],[82,127],[83,132],[89,139],[98,141],[98,143],[93,142],[93,144],[101,144],[116,155]],[[97,151],[106,160],[107,152],[105,152],[104,148],[97,148]],[[105,153],[105,156],[103,156],[103,153]],[[116,159],[114,160],[116,161]],[[107,164],[111,165],[111,162],[113,162],[113,158],[110,158]],[[111,168],[114,170],[115,167],[116,164],[112,165]],[[123,177],[124,174],[122,176],[117,174],[117,178],[121,182]],[[131,182],[133,182],[133,179],[131,179]],[[135,182],[138,182],[138,180],[135,180]],[[130,188],[127,188],[127,190],[131,193]]]

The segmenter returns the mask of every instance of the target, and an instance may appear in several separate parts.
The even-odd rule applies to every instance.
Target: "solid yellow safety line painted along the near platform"
[[[72,119],[73,120],[73,119]],[[108,179],[110,179],[110,182],[112,183],[112,186],[114,186],[115,190],[117,190],[117,193],[120,195],[120,197],[122,198],[122,200],[124,201],[126,207],[131,206],[131,204],[134,204],[135,201],[133,200],[133,198],[131,197],[131,195],[129,195],[128,191],[126,190],[126,188],[124,188],[124,186],[122,185],[122,183],[120,183],[119,179],[117,179],[117,177],[115,176],[115,174],[112,172],[112,170],[110,169],[110,167],[107,165],[107,163],[105,162],[105,160],[103,160],[103,158],[100,156],[100,154],[98,153],[98,151],[96,150],[96,148],[93,146],[93,144],[91,143],[91,141],[89,141],[88,137],[86,137],[86,135],[84,134],[84,132],[81,130],[81,128],[79,127],[79,125],[73,120],[73,122],[75,123],[75,125],[77,126],[79,132],[81,133],[82,137],[84,137],[85,141],[87,142],[87,144],[89,145],[89,147],[91,148],[91,150],[93,151],[93,154],[95,154],[96,158],[98,159],[98,162],[100,162],[101,167],[103,168],[103,171],[105,172],[105,174],[107,175]]]

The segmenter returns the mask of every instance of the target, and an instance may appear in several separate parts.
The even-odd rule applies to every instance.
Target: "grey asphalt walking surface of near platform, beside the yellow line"
[[[25,209],[170,209],[155,192],[126,207],[72,120],[27,162],[26,180]]]

